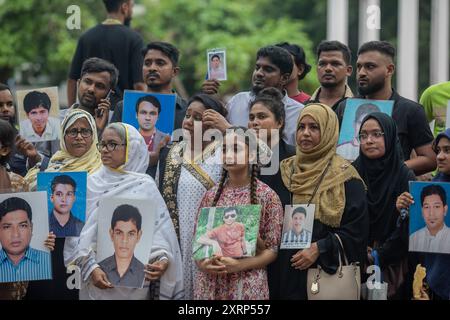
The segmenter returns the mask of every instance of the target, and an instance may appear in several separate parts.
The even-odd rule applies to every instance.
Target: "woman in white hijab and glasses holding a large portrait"
[[[96,260],[98,205],[102,197],[139,197],[156,206],[156,221],[150,265],[153,272],[146,279],[159,278],[159,299],[184,296],[181,254],[169,212],[154,180],[145,174],[148,151],[139,132],[124,123],[106,127],[99,143],[103,165],[88,177],[87,212],[89,218],[81,231],[75,254],[66,261],[81,268],[80,299],[148,299],[149,288],[112,288]],[[146,266],[147,268],[149,265]]]

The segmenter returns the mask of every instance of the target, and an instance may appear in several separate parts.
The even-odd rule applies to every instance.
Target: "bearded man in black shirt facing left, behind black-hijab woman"
[[[395,71],[395,48],[386,41],[371,41],[358,50],[356,80],[361,98],[374,100],[394,100],[392,118],[397,124],[398,137],[405,164],[416,175],[436,168],[436,154],[431,148],[431,133],[423,107],[400,96],[392,88]],[[346,101],[342,101],[335,112],[342,124]],[[411,158],[415,151],[416,157]]]

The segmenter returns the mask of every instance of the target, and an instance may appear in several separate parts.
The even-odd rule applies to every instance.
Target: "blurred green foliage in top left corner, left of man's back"
[[[77,3],[78,2],[78,3]],[[96,0],[0,1],[0,81],[27,70],[24,82],[47,75],[51,83],[67,77],[77,39],[104,16]],[[81,9],[81,30],[69,30],[67,7]]]

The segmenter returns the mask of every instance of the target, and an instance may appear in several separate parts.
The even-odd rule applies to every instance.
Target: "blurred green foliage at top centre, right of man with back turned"
[[[134,26],[146,41],[169,41],[180,49],[180,78],[191,94],[205,79],[206,50],[210,48],[227,50],[228,80],[221,85],[222,94],[250,87],[260,47],[281,41],[297,43],[306,50],[308,62],[313,62],[312,44],[303,23],[272,18],[273,12],[261,12],[259,1],[142,0],[141,4],[147,11],[134,19]],[[318,85],[314,73],[302,83],[307,92]]]

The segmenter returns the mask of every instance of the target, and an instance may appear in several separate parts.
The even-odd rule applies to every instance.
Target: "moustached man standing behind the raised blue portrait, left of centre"
[[[173,80],[180,73],[178,60],[180,52],[167,42],[150,42],[142,50],[142,77],[147,84],[148,93],[176,94],[173,90]],[[142,59],[142,57],[141,57]],[[174,129],[181,128],[186,114],[186,101],[178,94],[175,100]],[[111,122],[121,122],[123,101],[117,104]]]

